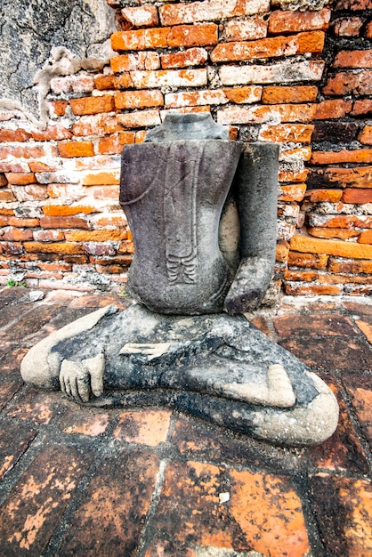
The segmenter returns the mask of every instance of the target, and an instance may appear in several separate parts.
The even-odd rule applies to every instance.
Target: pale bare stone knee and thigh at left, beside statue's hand
[[[58,329],[55,333],[47,336],[40,341],[40,343],[37,343],[22,359],[20,364],[20,375],[22,379],[30,386],[38,389],[58,389],[58,377],[60,375],[62,357],[58,352],[52,351],[53,347],[63,340],[91,329],[97,325],[103,317],[116,313],[117,311],[118,308],[116,305],[100,308]]]

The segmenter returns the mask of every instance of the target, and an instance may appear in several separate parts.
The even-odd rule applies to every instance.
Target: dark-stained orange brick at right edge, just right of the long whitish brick
[[[334,77],[328,79],[323,87],[326,95],[347,95],[350,93],[360,95],[372,94],[372,70],[366,69],[358,73],[352,71],[340,71]]]

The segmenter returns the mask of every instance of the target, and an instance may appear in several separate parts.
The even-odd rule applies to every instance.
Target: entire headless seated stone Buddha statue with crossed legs
[[[87,405],[175,408],[280,445],[336,430],[333,393],[242,315],[275,261],[278,147],[229,141],[206,114],[170,114],[126,146],[120,203],[128,292],[28,351],[24,380]]]

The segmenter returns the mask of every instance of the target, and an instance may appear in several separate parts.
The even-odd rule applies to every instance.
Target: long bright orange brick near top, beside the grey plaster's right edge
[[[214,23],[118,31],[111,35],[111,45],[114,51],[207,46],[217,44],[217,42],[218,27]]]

